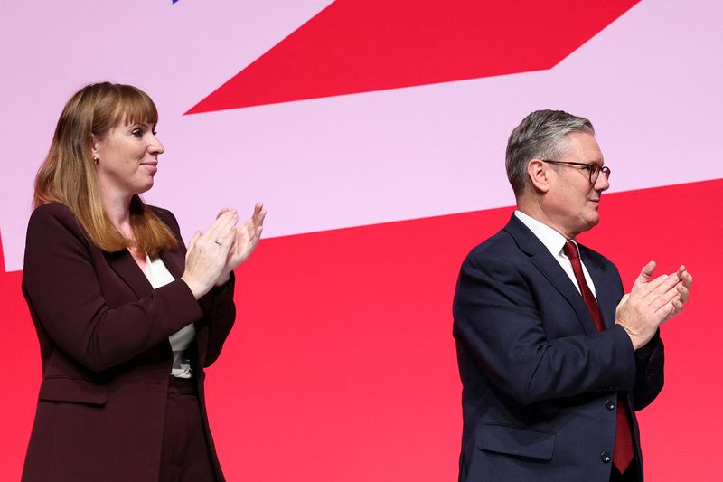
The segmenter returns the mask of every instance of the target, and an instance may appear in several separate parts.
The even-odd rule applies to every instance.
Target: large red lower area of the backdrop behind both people
[[[665,388],[638,413],[648,480],[714,480],[723,432],[719,322],[723,179],[604,194],[580,237],[621,271],[685,262],[690,304],[662,327]],[[672,201],[671,201],[672,200]],[[677,202],[684,200],[684,202]],[[462,413],[452,338],[459,266],[512,208],[261,241],[237,270],[237,324],[207,370],[228,480],[455,480]],[[631,249],[631,242],[643,248]],[[0,480],[19,480],[42,372],[22,272],[0,271],[5,396]],[[713,368],[711,368],[713,367]],[[681,411],[682,406],[690,410]],[[671,443],[676,457],[671,457]],[[686,463],[681,463],[681,460]]]

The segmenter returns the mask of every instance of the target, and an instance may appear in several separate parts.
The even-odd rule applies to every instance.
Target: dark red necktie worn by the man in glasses
[[[595,320],[597,331],[603,331],[605,326],[603,326],[603,318],[600,315],[600,306],[597,305],[595,295],[593,295],[593,292],[590,291],[590,288],[587,286],[585,276],[582,274],[582,264],[580,263],[580,253],[577,251],[577,245],[573,241],[568,241],[565,243],[563,251],[565,251],[570,263],[572,263],[572,270],[575,272],[577,285],[580,287],[580,293],[582,293],[582,298],[585,300],[587,309],[590,310],[590,315],[592,315],[593,320]],[[618,397],[616,416],[613,463],[622,474],[630,465],[630,462],[633,461],[633,433],[630,430],[627,404],[624,402],[622,395]]]

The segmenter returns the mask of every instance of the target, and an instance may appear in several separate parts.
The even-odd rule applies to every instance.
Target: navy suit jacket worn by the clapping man
[[[580,246],[606,330],[542,242],[516,216],[465,259],[454,302],[463,383],[459,480],[609,480],[618,397],[640,410],[662,389],[656,335],[633,351],[615,326],[623,284]],[[641,462],[633,411],[635,457]],[[606,461],[607,460],[607,461]]]

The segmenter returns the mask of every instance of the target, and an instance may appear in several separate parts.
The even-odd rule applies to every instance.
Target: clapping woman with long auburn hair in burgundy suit
[[[23,294],[42,383],[25,481],[223,480],[203,369],[236,310],[233,269],[266,211],[223,209],[186,250],[174,215],[139,194],[164,146],[145,92],[78,91],[35,180]]]

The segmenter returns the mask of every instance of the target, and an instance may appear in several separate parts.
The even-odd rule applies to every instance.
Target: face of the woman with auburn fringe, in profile
[[[155,124],[121,122],[102,139],[94,138],[93,155],[102,194],[130,197],[153,186],[158,155],[164,145],[155,137]]]

